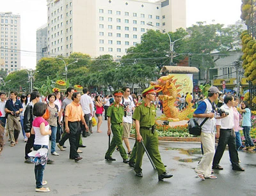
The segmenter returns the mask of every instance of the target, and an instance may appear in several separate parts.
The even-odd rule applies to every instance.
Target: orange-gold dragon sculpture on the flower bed
[[[191,113],[193,103],[191,103],[192,96],[188,94],[186,96],[186,102],[188,103],[186,109],[180,111],[177,108],[175,102],[180,97],[179,89],[180,85],[176,85],[177,79],[173,80],[174,75],[166,75],[160,77],[156,82],[150,82],[151,86],[154,86],[156,93],[162,91],[163,94],[159,95],[159,100],[163,102],[163,112],[165,117],[161,117],[161,120],[181,121],[188,119],[188,114]]]

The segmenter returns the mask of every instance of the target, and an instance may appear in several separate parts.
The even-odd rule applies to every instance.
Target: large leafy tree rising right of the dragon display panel
[[[228,51],[239,50],[241,26],[223,26],[223,24],[205,25],[204,22],[197,22],[196,25],[188,28],[190,38],[182,46],[184,52],[191,55],[191,64],[207,71],[207,82],[209,82],[209,69],[214,67],[215,62],[221,57],[228,56]],[[211,55],[214,52],[219,53],[216,59]]]

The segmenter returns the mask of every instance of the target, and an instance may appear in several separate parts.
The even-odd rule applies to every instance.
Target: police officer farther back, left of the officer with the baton
[[[112,158],[112,153],[115,151],[115,147],[117,146],[119,149],[119,153],[123,158],[124,163],[129,163],[128,156],[126,155],[123,142],[122,142],[122,134],[123,134],[123,116],[124,116],[124,106],[120,104],[122,100],[122,96],[124,91],[116,90],[113,95],[115,98],[115,102],[110,105],[108,108],[108,135],[111,134],[111,130],[113,132],[113,138],[111,140],[111,144],[106,152],[105,159],[110,161],[115,161],[115,158]]]

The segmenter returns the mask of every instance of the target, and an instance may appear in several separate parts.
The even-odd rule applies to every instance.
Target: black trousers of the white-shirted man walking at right
[[[236,167],[238,165],[239,158],[236,149],[236,136],[232,135],[231,129],[220,129],[220,138],[213,158],[212,165],[218,165],[220,163],[221,157],[225,151],[225,147],[227,146],[227,144],[232,167]]]

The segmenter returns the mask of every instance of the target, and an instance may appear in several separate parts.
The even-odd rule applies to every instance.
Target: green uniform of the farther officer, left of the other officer
[[[111,130],[113,133],[113,138],[111,140],[111,144],[109,146],[108,151],[106,152],[105,157],[110,158],[113,151],[115,151],[115,147],[118,146],[119,153],[122,156],[123,160],[127,160],[128,156],[126,155],[123,141],[122,141],[122,134],[123,134],[123,116],[124,116],[124,107],[119,104],[117,107],[116,103],[114,102],[108,108],[108,117],[111,117]]]

